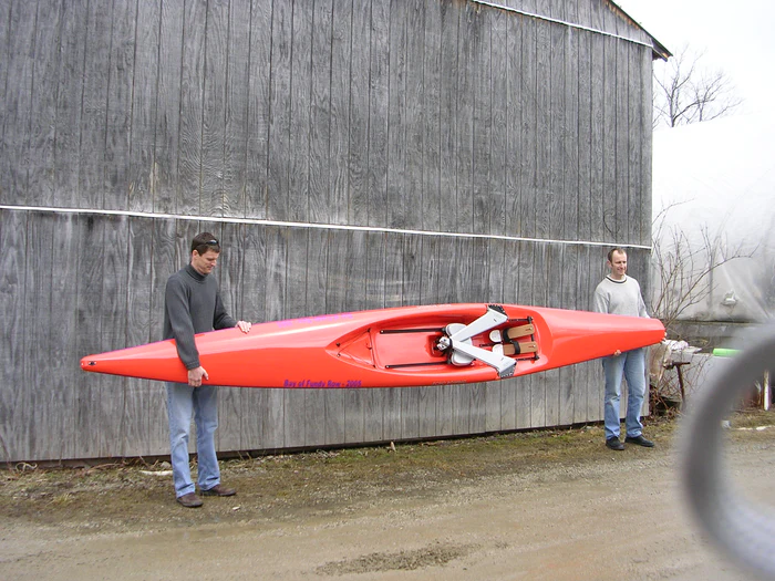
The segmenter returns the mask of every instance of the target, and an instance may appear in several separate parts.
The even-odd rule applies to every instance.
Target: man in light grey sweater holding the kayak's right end
[[[648,318],[649,313],[645,312],[640,284],[636,279],[627,276],[627,252],[621,248],[614,248],[608,253],[607,266],[610,274],[595,290],[595,312]],[[640,408],[645,396],[645,349],[634,349],[624,353],[616,351],[611,356],[603,357],[602,369],[606,374],[603,407],[606,446],[614,450],[624,449],[624,445],[619,439],[621,428],[619,404],[623,376],[629,392],[624,442],[648,448],[653,447],[653,442],[643,437],[643,425],[640,423]]]

